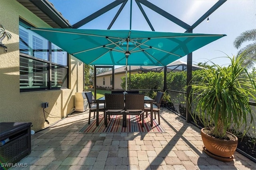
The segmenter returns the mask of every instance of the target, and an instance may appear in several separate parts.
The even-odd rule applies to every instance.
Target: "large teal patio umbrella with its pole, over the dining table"
[[[135,30],[30,28],[88,65],[166,66],[226,35]]]

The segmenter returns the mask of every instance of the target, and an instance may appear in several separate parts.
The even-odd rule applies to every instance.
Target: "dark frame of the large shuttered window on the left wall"
[[[20,25],[23,26],[23,27],[34,27],[33,25],[27,23],[26,21],[22,20],[21,18],[19,20],[19,26]],[[19,37],[20,37],[20,33],[19,33]],[[29,41],[32,41],[30,39],[30,36],[28,36],[28,38],[29,38]],[[34,57],[34,56],[32,56],[33,54],[32,55],[28,55],[26,53],[20,52],[20,57],[24,57],[24,58],[27,58],[27,59],[32,59],[33,61],[39,61],[39,62],[42,62],[42,63],[46,63],[48,65],[47,66],[47,72],[45,73],[46,74],[45,76],[46,76],[46,79],[47,79],[47,81],[46,81],[46,88],[21,88],[21,85],[20,85],[20,92],[44,91],[44,90],[60,90],[60,89],[68,89],[68,88],[70,88],[69,87],[70,86],[70,84],[69,84],[69,63],[70,63],[70,56],[69,56],[69,54],[66,53],[66,59],[67,59],[67,61],[66,61],[67,65],[66,66],[64,66],[62,64],[54,63],[54,62],[52,62],[52,44],[53,43],[51,43],[48,40],[47,40],[47,43],[48,43],[47,44],[48,45],[48,49],[47,49],[48,50],[48,56],[47,56],[48,60],[44,60],[44,59],[40,59],[40,58]],[[20,40],[19,40],[19,44],[20,44]],[[53,44],[53,45],[58,47],[55,44]],[[19,47],[19,50],[20,50],[20,47]],[[34,49],[32,49],[32,50],[34,50]],[[63,78],[65,78],[64,79],[65,80],[65,83],[64,83],[65,86],[64,87],[62,87],[62,86],[60,86],[60,87],[52,86],[52,70],[53,70],[52,66],[56,66],[57,70],[59,68],[61,68],[61,69],[64,68],[64,70],[66,70],[66,75],[63,76]],[[20,70],[20,72],[21,72],[21,70]],[[57,72],[57,74],[58,74],[58,72]],[[58,78],[58,77],[56,77],[56,78]],[[20,74],[20,80],[21,80],[21,74]],[[57,80],[57,82],[58,82],[58,80]]]

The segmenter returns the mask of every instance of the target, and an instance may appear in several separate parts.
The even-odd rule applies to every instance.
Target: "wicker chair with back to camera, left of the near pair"
[[[105,94],[105,125],[108,127],[110,115],[123,115],[124,127],[124,94]]]

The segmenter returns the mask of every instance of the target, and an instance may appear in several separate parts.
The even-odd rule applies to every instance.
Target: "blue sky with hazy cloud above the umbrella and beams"
[[[72,25],[100,10],[114,0],[48,0],[61,12]],[[172,14],[188,25],[193,25],[205,14],[217,0],[148,0],[162,10]],[[107,29],[120,5],[86,23],[80,29]],[[185,32],[182,27],[172,23],[160,14],[142,5],[155,31]],[[215,12],[208,16],[209,22],[203,21],[193,33],[226,34],[193,52],[193,64],[205,63],[209,60],[219,65],[229,64],[227,58],[236,55],[239,49],[233,46],[234,39],[242,32],[256,28],[256,0],[228,0]],[[132,30],[151,31],[148,23],[140,12],[136,2],[132,0]],[[111,29],[130,29],[130,0],[118,16]],[[251,43],[251,42],[248,42]],[[242,47],[248,45],[242,44]],[[187,61],[184,56],[180,61]],[[209,62],[208,62],[209,63]],[[209,63],[210,64],[210,63]]]

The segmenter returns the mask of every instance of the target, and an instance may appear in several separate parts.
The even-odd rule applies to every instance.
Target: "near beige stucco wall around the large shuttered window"
[[[0,0],[0,18],[12,34],[11,40],[3,41],[7,53],[0,48],[0,122],[32,122],[32,129],[38,131],[49,126],[44,122],[42,102],[49,103],[45,110],[51,114],[46,113],[50,124],[72,112],[75,92],[83,91],[83,63],[69,57],[70,89],[20,92],[19,18],[35,27],[50,26],[16,0]]]

